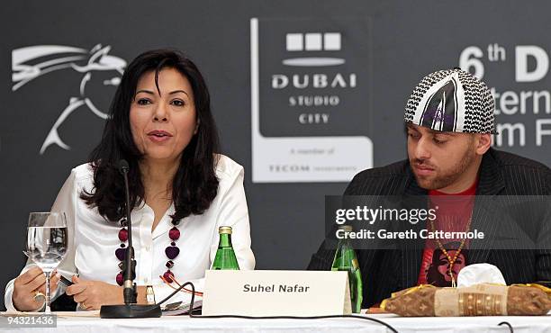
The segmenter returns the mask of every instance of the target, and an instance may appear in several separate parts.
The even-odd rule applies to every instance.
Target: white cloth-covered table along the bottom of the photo
[[[508,321],[515,333],[551,333],[551,315],[540,317],[445,317],[403,318],[393,314],[371,314],[365,317],[384,320],[399,332],[510,332]],[[130,333],[130,332],[301,332],[301,333],[351,333],[391,332],[375,322],[355,319],[326,320],[242,320],[242,319],[195,319],[187,316],[163,317],[160,319],[102,320],[90,317],[59,317],[57,328],[0,329],[2,332],[32,333]]]

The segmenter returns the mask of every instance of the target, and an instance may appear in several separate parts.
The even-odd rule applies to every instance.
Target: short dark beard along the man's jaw
[[[471,166],[472,163],[474,163],[474,155],[475,154],[472,150],[466,149],[465,154],[463,154],[463,157],[459,159],[459,162],[455,166],[452,166],[452,168],[445,174],[436,175],[436,177],[433,178],[424,178],[422,176],[419,177],[415,174],[414,166],[423,165],[423,160],[420,159],[410,159],[411,171],[413,171],[417,184],[419,184],[421,188],[426,190],[438,190],[440,188],[447,187],[450,184],[454,184],[456,180],[463,175],[465,170]]]

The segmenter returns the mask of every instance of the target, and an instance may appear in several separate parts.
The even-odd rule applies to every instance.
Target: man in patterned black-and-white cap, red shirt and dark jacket
[[[491,148],[494,102],[488,87],[454,68],[425,76],[405,109],[408,159],[365,170],[345,195],[425,195],[436,220],[428,231],[483,230],[483,239],[417,239],[415,247],[357,248],[363,307],[417,284],[454,286],[466,265],[500,268],[507,284],[551,280],[551,170]],[[496,199],[497,198],[497,199]],[[399,242],[399,240],[397,240]],[[334,249],[326,240],[309,269],[330,269]],[[436,257],[435,257],[436,256]]]

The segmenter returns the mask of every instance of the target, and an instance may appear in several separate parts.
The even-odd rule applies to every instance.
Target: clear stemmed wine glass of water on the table
[[[63,212],[31,212],[27,255],[46,275],[46,313],[50,310],[50,275],[67,255],[67,221]]]

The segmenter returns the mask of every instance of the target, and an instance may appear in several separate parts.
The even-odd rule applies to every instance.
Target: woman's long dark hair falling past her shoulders
[[[189,81],[199,123],[197,133],[184,149],[172,182],[172,201],[176,208],[173,220],[183,219],[190,214],[202,214],[216,196],[218,178],[215,174],[215,153],[219,147],[218,132],[203,76],[193,61],[179,51],[149,50],[132,60],[126,68],[114,94],[102,140],[89,157],[94,170],[94,189],[91,193],[83,191],[80,198],[88,206],[97,207],[107,220],[120,220],[125,215],[124,183],[118,170],[121,159],[127,160],[130,165],[131,207],[143,201],[145,190],[139,166],[143,154],[132,139],[129,113],[140,77],[155,71],[155,85],[159,89],[158,73],[163,68],[175,68]]]

